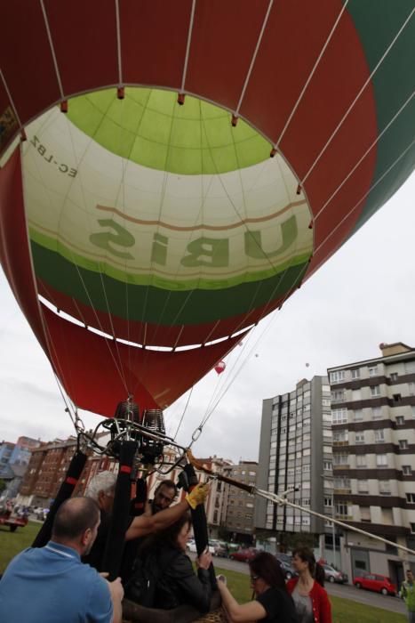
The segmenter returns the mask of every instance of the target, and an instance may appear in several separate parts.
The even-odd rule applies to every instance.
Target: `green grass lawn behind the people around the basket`
[[[11,532],[5,526],[0,526],[0,573],[3,573],[13,556],[31,545],[41,525],[41,523],[28,522],[25,528],[18,528],[15,532]],[[237,571],[219,569],[216,566],[215,569],[227,577],[227,586],[239,603],[251,600],[248,576]],[[403,614],[395,614],[395,612],[381,608],[371,608],[339,597],[331,597],[330,600],[333,623],[350,623],[351,620],[355,623],[405,623],[406,621]]]

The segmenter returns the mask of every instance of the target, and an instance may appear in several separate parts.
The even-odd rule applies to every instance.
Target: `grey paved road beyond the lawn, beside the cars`
[[[213,563],[216,567],[220,567],[220,569],[240,571],[246,574],[249,572],[248,565],[245,562],[236,562],[228,560],[227,558],[215,557]],[[371,591],[359,590],[349,585],[331,584],[330,582],[326,582],[325,587],[329,595],[350,599],[352,602],[363,603],[366,606],[383,608],[390,612],[401,612],[402,614],[406,612],[405,604],[397,597],[380,595],[379,593],[372,593]]]

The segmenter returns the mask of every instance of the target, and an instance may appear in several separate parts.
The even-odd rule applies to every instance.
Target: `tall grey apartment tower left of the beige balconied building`
[[[263,401],[257,486],[280,495],[291,490],[291,502],[331,516],[331,478],[330,385],[326,376],[314,376],[292,392]],[[322,535],[321,546],[331,560],[332,532],[323,519],[257,498],[255,526],[275,545],[287,532]]]

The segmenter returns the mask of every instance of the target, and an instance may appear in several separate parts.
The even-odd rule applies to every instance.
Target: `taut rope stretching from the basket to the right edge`
[[[371,532],[368,532],[367,530],[361,530],[360,528],[355,528],[355,526],[351,526],[348,523],[340,522],[339,519],[333,519],[332,517],[330,517],[328,515],[325,515],[325,514],[322,514],[322,513],[317,513],[316,511],[312,511],[310,508],[305,508],[304,506],[299,506],[299,504],[295,504],[294,502],[290,502],[287,499],[287,496],[289,496],[291,493],[294,493],[295,491],[298,490],[295,487],[292,487],[291,489],[283,491],[280,494],[271,493],[270,491],[265,491],[265,490],[262,490],[262,489],[258,489],[254,485],[248,485],[245,482],[235,481],[233,478],[227,478],[227,476],[222,476],[220,473],[212,472],[207,467],[204,467],[204,464],[201,461],[197,460],[192,455],[190,450],[188,450],[188,461],[189,461],[189,463],[194,465],[194,467],[196,467],[196,469],[198,469],[198,470],[200,470],[200,471],[202,471],[204,473],[207,473],[211,477],[211,480],[218,480],[218,481],[222,481],[222,482],[227,482],[227,484],[231,485],[232,487],[236,487],[237,489],[242,489],[244,491],[247,491],[248,493],[251,493],[251,495],[259,496],[259,498],[265,498],[269,502],[272,502],[273,504],[275,504],[277,506],[290,506],[291,508],[294,508],[294,509],[296,509],[298,511],[301,511],[302,513],[311,514],[314,517],[318,517],[319,519],[323,519],[325,522],[330,522],[331,525],[334,524],[336,526],[339,526],[340,528],[343,528],[344,530],[351,530],[351,531],[356,532],[358,534],[363,534],[364,537],[374,538],[375,540],[377,540],[377,541],[379,541],[381,543],[385,543],[388,546],[393,546],[393,547],[396,547],[397,549],[402,549],[403,552],[407,552],[407,554],[415,555],[415,550],[410,549],[409,547],[402,546],[402,545],[400,545],[398,543],[395,543],[394,541],[387,540],[387,538],[379,537],[376,534],[372,534]]]

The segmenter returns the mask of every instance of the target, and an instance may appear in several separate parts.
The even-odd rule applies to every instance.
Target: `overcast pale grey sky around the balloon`
[[[262,400],[303,377],[380,356],[379,343],[415,346],[415,174],[353,239],[196,385],[178,435],[188,445],[212,397],[223,397],[193,449],[257,460]],[[52,368],[0,274],[0,441],[50,441],[73,427]],[[306,364],[309,364],[307,367]],[[165,412],[174,433],[188,394]],[[98,417],[82,414],[87,426]]]

